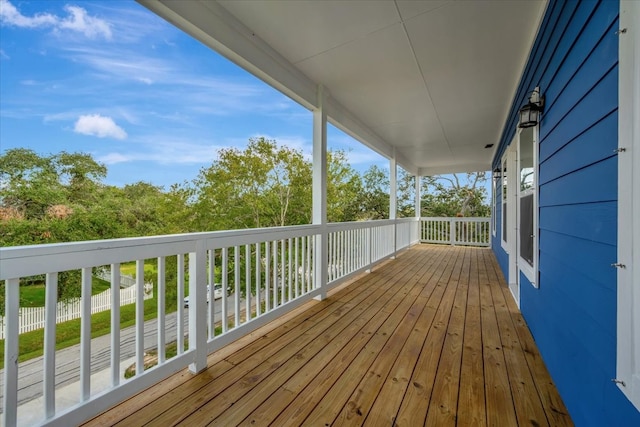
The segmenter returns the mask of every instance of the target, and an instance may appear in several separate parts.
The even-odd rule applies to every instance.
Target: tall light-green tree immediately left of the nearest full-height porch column
[[[311,173],[301,152],[252,138],[223,149],[194,181],[200,230],[304,224],[310,218]]]

